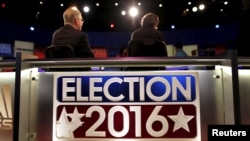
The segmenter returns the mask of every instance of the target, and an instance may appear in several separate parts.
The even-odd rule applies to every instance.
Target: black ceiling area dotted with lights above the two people
[[[191,1],[192,4],[188,5]],[[214,26],[234,22],[239,17],[241,0],[0,0],[0,18],[35,28],[56,29],[63,25],[62,13],[71,5],[80,10],[90,7],[89,13],[83,13],[84,31],[132,31],[139,27],[143,14],[154,12],[160,17],[160,30],[170,30],[175,24],[177,29]],[[43,4],[40,4],[42,2]],[[100,6],[96,6],[96,3]],[[114,3],[119,5],[115,6]],[[132,5],[139,7],[139,17],[121,16],[121,10]],[[203,2],[202,12],[191,12],[193,6]],[[228,2],[225,5],[225,2]],[[60,6],[63,4],[63,6]],[[163,7],[158,7],[162,4]],[[190,11],[183,13],[185,9]],[[115,27],[110,28],[114,23]]]

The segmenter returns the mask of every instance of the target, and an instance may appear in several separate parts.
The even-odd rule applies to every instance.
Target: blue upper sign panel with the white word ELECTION
[[[82,76],[58,78],[61,102],[180,102],[195,100],[195,78],[177,76]]]

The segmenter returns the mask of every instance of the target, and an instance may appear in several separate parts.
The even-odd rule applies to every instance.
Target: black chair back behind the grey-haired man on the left
[[[45,50],[45,58],[74,58],[75,51],[70,45],[51,45]]]

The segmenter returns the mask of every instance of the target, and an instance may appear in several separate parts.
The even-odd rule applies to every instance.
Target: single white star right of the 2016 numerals
[[[175,116],[168,116],[171,118],[171,120],[174,121],[174,129],[173,132],[176,130],[183,128],[186,131],[189,132],[188,122],[194,117],[194,116],[187,116],[184,114],[182,108],[180,107],[178,114]]]

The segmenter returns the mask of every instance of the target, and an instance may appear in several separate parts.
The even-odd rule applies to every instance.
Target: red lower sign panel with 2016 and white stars
[[[58,138],[194,138],[195,105],[60,105]]]

